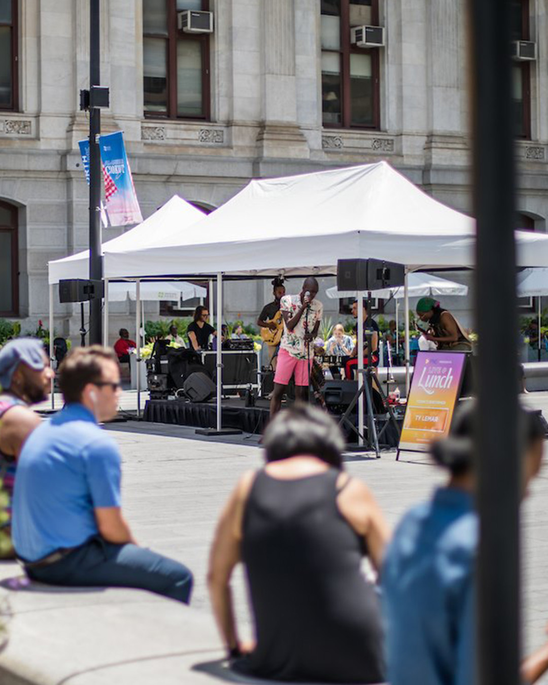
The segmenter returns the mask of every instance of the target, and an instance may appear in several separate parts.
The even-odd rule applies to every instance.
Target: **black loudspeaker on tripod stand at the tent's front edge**
[[[403,264],[379,259],[337,261],[337,290],[380,290],[403,286]]]

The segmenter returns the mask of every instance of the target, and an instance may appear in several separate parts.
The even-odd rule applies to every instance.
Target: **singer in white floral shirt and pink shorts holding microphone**
[[[308,388],[308,375],[316,338],[323,313],[323,305],[316,300],[319,285],[312,276],[305,279],[299,295],[284,295],[279,310],[284,317],[284,334],[279,345],[274,376],[274,392],[270,403],[273,416],[282,406],[282,397],[292,376],[295,376],[295,399],[302,400]]]

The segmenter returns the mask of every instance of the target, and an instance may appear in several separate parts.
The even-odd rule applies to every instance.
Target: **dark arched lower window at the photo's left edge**
[[[17,208],[0,202],[0,316],[18,316]]]

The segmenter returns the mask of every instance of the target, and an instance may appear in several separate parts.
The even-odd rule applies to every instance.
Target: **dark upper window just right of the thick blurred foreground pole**
[[[529,0],[512,1],[512,40],[530,40]],[[531,64],[512,64],[514,125],[518,138],[531,138]]]

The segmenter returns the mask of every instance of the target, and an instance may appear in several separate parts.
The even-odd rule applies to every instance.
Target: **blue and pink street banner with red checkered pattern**
[[[142,214],[125,153],[122,132],[99,136],[99,148],[103,162],[105,205],[110,225],[141,223]]]

